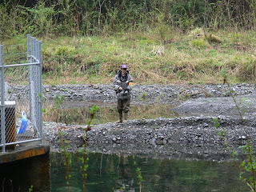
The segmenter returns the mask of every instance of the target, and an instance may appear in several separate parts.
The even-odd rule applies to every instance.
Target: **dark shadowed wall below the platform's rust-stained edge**
[[[0,191],[50,191],[50,154],[0,164]]]

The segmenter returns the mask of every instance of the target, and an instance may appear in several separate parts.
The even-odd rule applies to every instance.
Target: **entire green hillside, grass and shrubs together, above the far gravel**
[[[42,40],[44,83],[254,82],[254,1],[4,1],[3,45]],[[11,18],[11,19],[10,19]]]

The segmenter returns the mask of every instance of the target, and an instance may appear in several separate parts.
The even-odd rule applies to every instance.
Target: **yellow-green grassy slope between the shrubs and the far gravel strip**
[[[223,74],[230,82],[254,82],[256,76],[254,31],[205,35],[198,28],[187,33],[154,28],[42,42],[43,83],[51,85],[111,83],[122,63],[138,84],[222,83]]]

